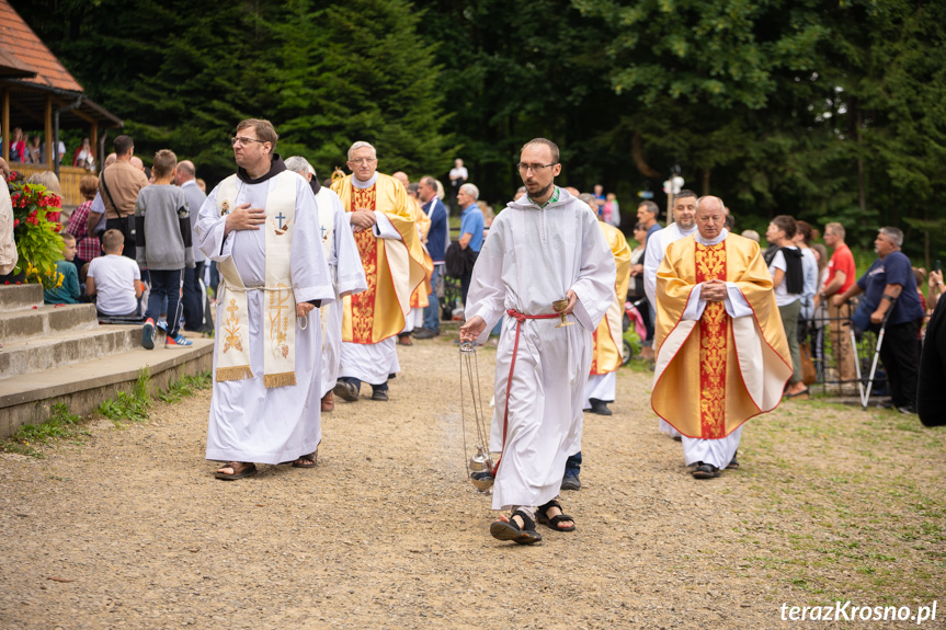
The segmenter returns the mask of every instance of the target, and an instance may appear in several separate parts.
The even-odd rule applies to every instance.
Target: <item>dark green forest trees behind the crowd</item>
[[[322,179],[355,140],[380,170],[446,180],[465,160],[502,207],[535,136],[560,184],[664,208],[672,172],[737,229],[789,214],[881,225],[946,257],[946,3],[920,0],[14,0],[146,163],[232,172],[236,122]],[[113,133],[114,135],[114,133]],[[77,138],[69,144],[71,156]]]

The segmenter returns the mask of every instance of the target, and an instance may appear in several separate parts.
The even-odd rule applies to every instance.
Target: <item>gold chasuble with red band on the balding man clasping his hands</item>
[[[752,312],[731,318],[725,302],[707,301],[699,321],[684,320],[691,291],[710,279],[734,283]],[[791,358],[755,242],[727,234],[704,245],[691,236],[668,247],[657,273],[654,350],[651,404],[687,437],[726,437],[778,405]]]

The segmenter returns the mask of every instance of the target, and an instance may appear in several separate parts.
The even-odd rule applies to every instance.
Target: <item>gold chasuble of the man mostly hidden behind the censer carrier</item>
[[[627,286],[630,284],[630,248],[624,233],[602,221],[597,222],[604,232],[604,240],[614,254],[617,275],[614,280],[614,300],[601,323],[594,331],[594,348],[591,355],[591,374],[602,375],[617,371],[620,367],[620,346],[624,343],[624,302],[627,300]]]

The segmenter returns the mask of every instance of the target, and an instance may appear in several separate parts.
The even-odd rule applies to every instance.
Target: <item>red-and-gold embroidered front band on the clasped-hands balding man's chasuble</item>
[[[696,243],[696,284],[726,282],[726,241]],[[708,301],[699,318],[699,428],[700,437],[726,437],[726,360],[729,314],[723,302]]]

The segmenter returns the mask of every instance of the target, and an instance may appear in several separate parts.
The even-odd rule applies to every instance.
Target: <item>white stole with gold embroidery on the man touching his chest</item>
[[[217,191],[217,211],[228,215],[235,207],[239,179],[230,175]],[[216,379],[253,378],[250,369],[250,320],[247,291],[265,291],[263,309],[263,383],[265,387],[296,385],[296,300],[293,293],[289,252],[296,216],[296,184],[288,172],[270,180],[266,192],[265,286],[243,284],[232,256],[220,264],[224,276],[220,298],[228,313],[217,341]]]

